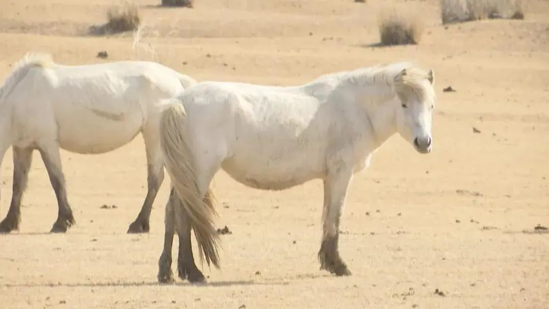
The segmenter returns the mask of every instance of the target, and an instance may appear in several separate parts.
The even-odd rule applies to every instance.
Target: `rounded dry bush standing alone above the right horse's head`
[[[409,13],[385,11],[378,16],[380,44],[418,44],[423,33],[421,20]]]

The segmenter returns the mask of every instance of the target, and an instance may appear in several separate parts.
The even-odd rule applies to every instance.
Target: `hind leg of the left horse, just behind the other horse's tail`
[[[143,132],[145,151],[147,151],[147,197],[135,221],[130,224],[128,233],[148,233],[150,212],[153,209],[154,199],[164,181],[164,164],[160,151],[158,133]]]

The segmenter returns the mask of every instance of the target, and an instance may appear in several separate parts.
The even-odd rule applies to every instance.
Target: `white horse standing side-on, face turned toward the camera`
[[[219,268],[219,237],[209,185],[222,168],[257,189],[283,190],[311,179],[324,182],[321,269],[351,274],[338,250],[339,221],[354,173],[394,133],[429,153],[435,102],[434,73],[408,63],[325,75],[298,87],[200,82],[163,111],[160,144],[171,178],[160,282],[173,280],[174,232],[180,239],[178,274],[201,282],[201,260]]]

